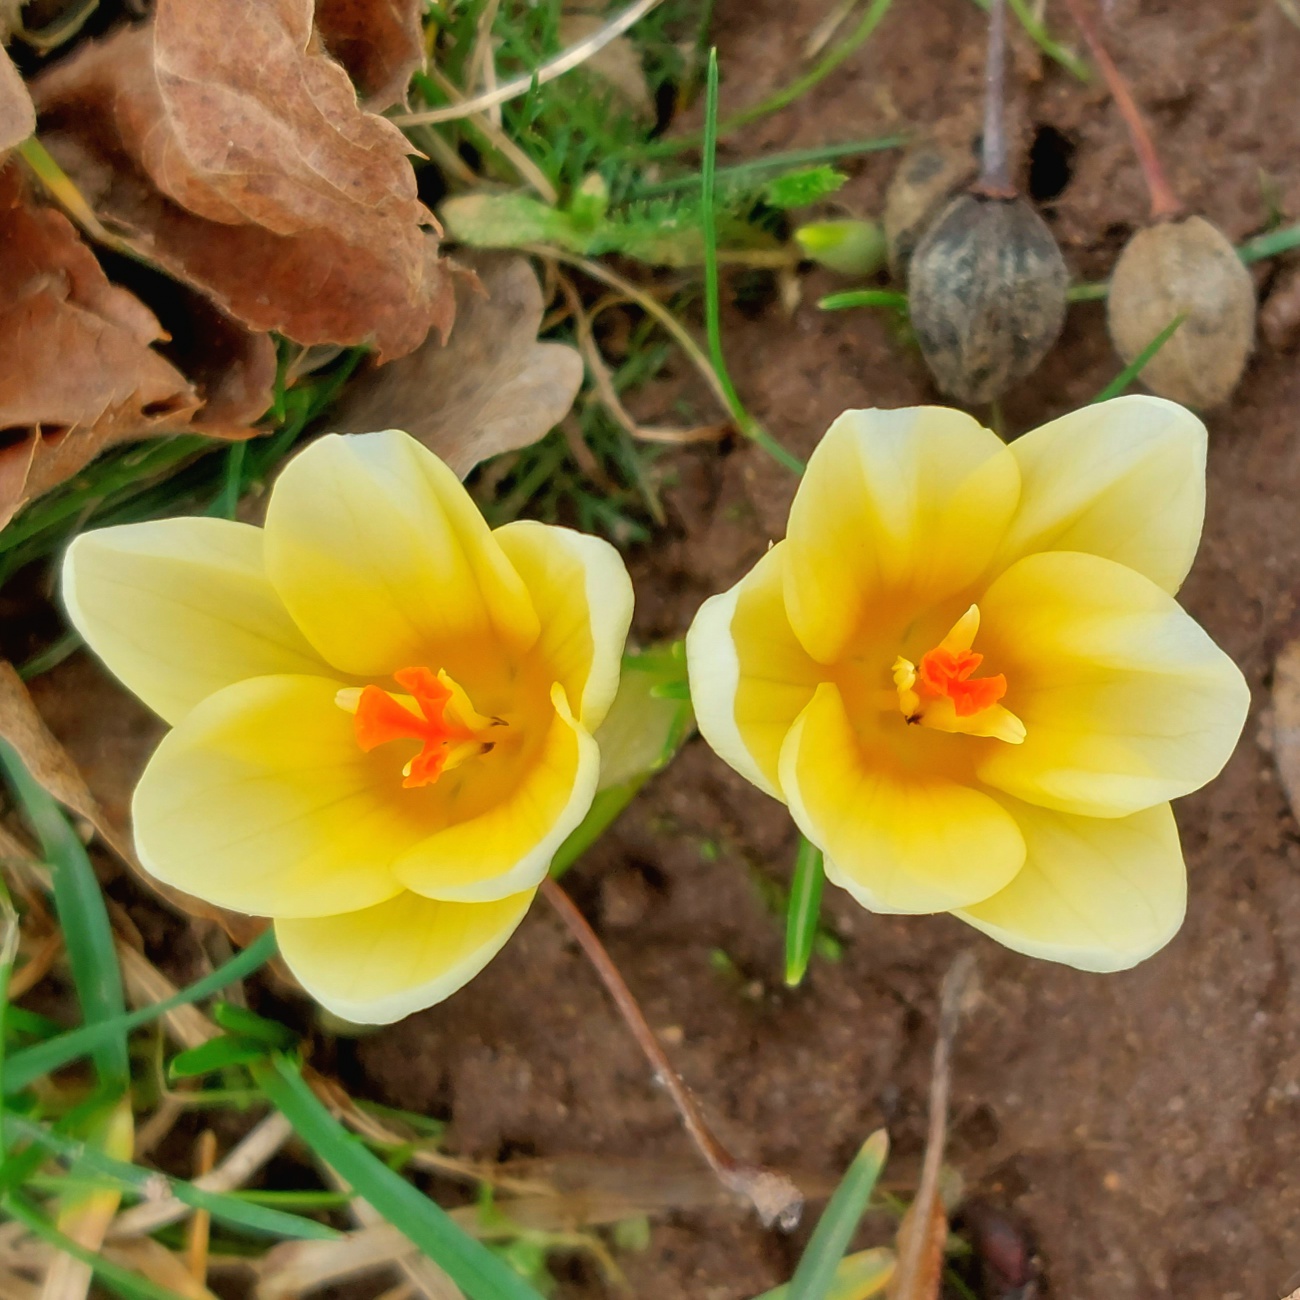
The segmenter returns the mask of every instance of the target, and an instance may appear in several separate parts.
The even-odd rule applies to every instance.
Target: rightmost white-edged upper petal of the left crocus
[[[632,578],[599,537],[519,520],[493,537],[524,580],[541,620],[533,649],[564,686],[577,720],[594,732],[619,689],[632,625]]]

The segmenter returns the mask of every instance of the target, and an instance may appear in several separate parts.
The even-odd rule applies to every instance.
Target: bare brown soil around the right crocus
[[[724,113],[801,66],[824,0],[720,0]],[[1069,35],[1061,6],[1049,17]],[[1231,238],[1260,230],[1269,192],[1300,216],[1300,30],[1274,0],[1114,0],[1108,30],[1150,113],[1170,177]],[[879,34],[793,109],[728,142],[728,157],[870,136],[976,114],[983,20],[968,0],[897,4]],[[1052,126],[1074,146],[1044,205],[1079,278],[1104,276],[1145,195],[1114,108],[1017,42],[1013,108],[1027,148]],[[894,159],[854,164],[841,191],[879,209]],[[1273,272],[1261,273],[1268,291]],[[753,412],[806,454],[845,407],[935,400],[890,321],[803,306],[732,312],[725,338]],[[1041,370],[1005,403],[1023,430],[1092,396],[1118,369],[1096,304],[1071,309]],[[1188,608],[1244,667],[1256,715],[1209,789],[1179,806],[1191,871],[1187,924],[1136,971],[1095,976],[1004,952],[949,918],[874,916],[828,890],[837,965],[783,988],[780,922],[754,874],[785,879],[784,809],[698,740],[568,878],[672,1058],[737,1153],[826,1182],[887,1124],[890,1174],[916,1167],[939,980],[966,945],[983,996],[954,1076],[950,1161],[970,1193],[1011,1208],[1049,1290],[1074,1300],[1254,1300],[1300,1269],[1300,838],[1258,710],[1300,590],[1300,356],[1261,344],[1210,419],[1205,543]],[[649,413],[649,412],[647,412]],[[780,536],[794,488],[762,452],[682,454],[671,526],[633,569],[636,633],[679,636],[699,602]],[[122,807],[143,723],[114,706],[107,734],[77,714],[96,670],[73,662],[39,701],[88,775]],[[125,764],[122,755],[133,755]],[[711,963],[725,952],[738,974]],[[534,909],[504,954],[450,1002],[338,1049],[347,1084],[447,1117],[473,1157],[655,1157],[693,1169],[666,1096],[558,920]],[[1291,1174],[1287,1173],[1291,1170]],[[645,1171],[642,1170],[642,1174]],[[872,1226],[883,1239],[887,1225]],[[720,1204],[659,1218],[620,1254],[646,1300],[740,1300],[784,1280],[806,1239]],[[598,1296],[575,1265],[562,1294]]]

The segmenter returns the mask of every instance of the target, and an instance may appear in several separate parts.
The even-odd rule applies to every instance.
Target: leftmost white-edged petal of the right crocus
[[[699,733],[774,798],[781,798],[781,745],[822,675],[785,616],[786,550],[777,542],[729,592],[706,601],[686,633]]]

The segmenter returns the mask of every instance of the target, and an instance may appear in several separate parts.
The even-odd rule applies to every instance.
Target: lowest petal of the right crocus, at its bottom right
[[[1187,871],[1167,803],[1109,819],[1009,806],[1024,867],[958,916],[1018,953],[1086,971],[1127,970],[1178,933]]]

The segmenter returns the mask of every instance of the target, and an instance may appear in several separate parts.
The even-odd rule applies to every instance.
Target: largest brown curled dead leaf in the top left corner
[[[312,0],[160,0],[32,95],[100,220],[252,329],[380,360],[450,329],[406,138],[313,44]]]

